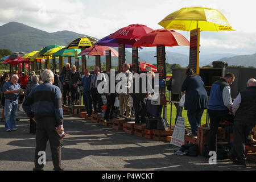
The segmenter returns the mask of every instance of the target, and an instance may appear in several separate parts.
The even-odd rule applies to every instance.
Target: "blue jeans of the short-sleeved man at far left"
[[[18,109],[18,100],[5,100],[5,129],[14,129],[16,126],[16,113]]]

